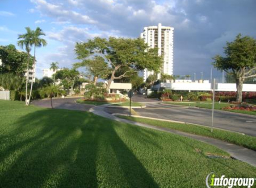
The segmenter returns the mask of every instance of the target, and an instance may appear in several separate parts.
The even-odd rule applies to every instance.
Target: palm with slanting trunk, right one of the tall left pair
[[[36,47],[41,47],[41,46],[46,46],[47,42],[46,40],[40,38],[40,36],[45,36],[45,33],[43,33],[42,29],[37,27],[36,30],[32,31],[32,36],[31,36],[31,45],[34,45],[34,64],[33,68],[36,65]],[[34,79],[34,72],[32,75],[32,80],[31,80],[31,87],[30,87],[30,94],[29,94],[29,101],[32,93],[32,88],[33,88],[33,79]],[[28,101],[28,104],[29,104]]]

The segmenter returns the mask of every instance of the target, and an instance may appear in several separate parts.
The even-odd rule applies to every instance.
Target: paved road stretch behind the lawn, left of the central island
[[[83,110],[88,111],[94,105],[84,105],[76,103],[76,99],[78,98],[58,98],[53,99],[53,107],[54,108],[61,108],[61,109],[68,109],[68,110]],[[32,104],[36,106],[41,106],[45,108],[51,108],[50,100],[38,100],[32,102]]]

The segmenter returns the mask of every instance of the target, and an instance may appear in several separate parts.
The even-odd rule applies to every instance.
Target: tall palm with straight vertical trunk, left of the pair
[[[31,51],[31,45],[32,45],[32,35],[33,31],[29,28],[25,28],[27,33],[18,35],[18,39],[21,39],[17,42],[17,44],[21,47],[21,49],[25,48],[28,57],[27,57],[27,78],[26,78],[26,91],[25,91],[25,104],[28,106],[28,82],[29,82],[29,57],[30,57],[30,51]]]

